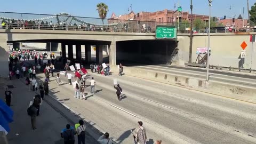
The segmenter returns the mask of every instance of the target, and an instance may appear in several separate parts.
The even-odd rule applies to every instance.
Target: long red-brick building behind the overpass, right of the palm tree
[[[139,12],[134,13],[133,11],[129,14],[123,14],[116,16],[115,13],[111,15],[111,18],[109,19],[110,23],[117,22],[118,20],[136,20],[136,21],[154,21],[159,23],[172,23],[172,22],[178,22],[178,11],[172,11],[172,10],[163,10],[163,11],[157,11],[157,12]],[[135,19],[134,19],[135,15]],[[180,17],[182,20],[188,20],[190,22],[191,14],[189,12],[180,12]],[[199,18],[205,22],[209,21],[209,16],[207,15],[199,15],[199,14],[193,14],[193,19]],[[112,20],[112,21],[111,21]],[[121,22],[120,21],[120,22]]]

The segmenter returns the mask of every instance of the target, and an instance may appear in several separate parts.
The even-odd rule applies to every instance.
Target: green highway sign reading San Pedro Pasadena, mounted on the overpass
[[[177,28],[173,26],[156,26],[156,38],[177,38]]]

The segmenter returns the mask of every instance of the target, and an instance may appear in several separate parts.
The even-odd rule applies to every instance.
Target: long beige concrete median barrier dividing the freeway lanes
[[[118,69],[111,70],[114,73],[118,73]],[[157,70],[148,70],[138,67],[124,67],[124,74],[256,103],[256,87],[253,86],[250,87],[243,84],[234,85],[232,83],[220,81],[206,82],[205,79],[202,78],[163,73]]]

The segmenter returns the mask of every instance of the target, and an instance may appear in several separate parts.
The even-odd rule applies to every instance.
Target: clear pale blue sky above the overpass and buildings
[[[106,3],[109,6],[109,13],[107,18],[115,12],[116,15],[128,13],[128,8],[132,5],[132,10],[137,13],[141,11],[161,11],[164,9],[174,10],[174,4],[178,6],[179,0],[14,0],[2,1],[1,11],[6,12],[24,12],[24,13],[42,13],[42,14],[58,14],[60,12],[67,12],[72,15],[81,17],[95,17],[98,18],[96,5],[100,2]],[[243,16],[243,7],[245,7],[245,18],[247,18],[247,0],[213,0],[212,15],[215,17],[232,17],[232,15],[241,14]],[[249,0],[250,9],[256,2]],[[176,9],[177,9],[176,6]],[[180,6],[183,11],[190,11],[190,1],[180,0]],[[207,0],[193,0],[195,14],[209,14],[209,7]],[[229,9],[231,6],[231,10]]]

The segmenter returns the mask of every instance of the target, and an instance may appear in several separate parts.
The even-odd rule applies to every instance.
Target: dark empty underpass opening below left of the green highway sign
[[[116,60],[126,65],[166,65],[177,47],[178,41],[171,39],[116,42]]]

